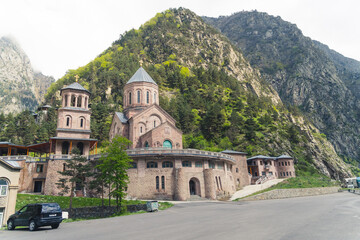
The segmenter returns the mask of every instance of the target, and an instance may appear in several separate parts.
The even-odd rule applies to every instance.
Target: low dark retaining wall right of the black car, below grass
[[[127,205],[128,212],[146,211],[146,204]],[[64,212],[69,212],[69,209],[63,209]],[[73,208],[71,213],[69,212],[69,218],[99,218],[110,217],[117,213],[116,206],[104,206],[104,207],[82,207]]]

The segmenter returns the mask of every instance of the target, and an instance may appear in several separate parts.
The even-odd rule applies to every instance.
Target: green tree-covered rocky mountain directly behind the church
[[[158,13],[126,32],[53,83],[46,101],[59,106],[58,90],[80,76],[92,92],[92,137],[105,140],[111,114],[122,109],[123,87],[140,63],[159,85],[160,105],[177,120],[184,147],[289,154],[298,174],[351,175],[326,137],[287,108],[226,37],[187,9]]]

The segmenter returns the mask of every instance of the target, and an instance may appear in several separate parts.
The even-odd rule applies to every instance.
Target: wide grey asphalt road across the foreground
[[[0,231],[16,239],[360,239],[360,196],[351,193],[254,202],[190,202],[160,212]]]

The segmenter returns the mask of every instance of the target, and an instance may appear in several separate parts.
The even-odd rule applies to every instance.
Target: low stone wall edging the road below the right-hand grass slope
[[[336,193],[338,191],[339,191],[339,187],[275,189],[269,192],[260,193],[255,196],[247,197],[244,200],[253,201],[253,200],[306,197],[306,196]]]

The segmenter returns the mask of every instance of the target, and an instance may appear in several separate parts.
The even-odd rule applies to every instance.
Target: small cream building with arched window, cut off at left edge
[[[18,162],[0,159],[0,227],[15,213],[20,169]]]

